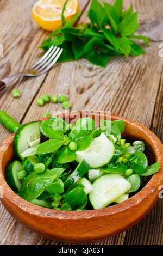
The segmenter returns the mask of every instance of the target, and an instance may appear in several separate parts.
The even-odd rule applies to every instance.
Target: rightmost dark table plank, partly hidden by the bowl
[[[163,142],[163,69],[151,130]],[[163,201],[159,199],[153,210],[137,225],[127,231],[125,245],[163,245]],[[141,232],[141,235],[140,235]]]

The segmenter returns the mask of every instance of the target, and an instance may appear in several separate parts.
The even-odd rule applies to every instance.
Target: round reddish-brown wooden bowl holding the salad
[[[64,114],[64,118],[69,115],[70,113]],[[85,112],[85,115],[92,117],[90,112]],[[106,118],[105,113],[104,118]],[[159,172],[152,176],[140,192],[121,204],[83,212],[57,211],[28,203],[18,197],[5,181],[5,167],[14,159],[14,135],[11,135],[0,147],[0,186],[3,188],[1,200],[8,212],[36,234],[62,242],[90,242],[105,239],[129,229],[145,217],[159,199],[159,187],[163,183],[162,143],[145,126],[133,120],[111,115],[111,120],[116,119],[126,122],[124,137],[145,142],[150,164],[160,162]]]

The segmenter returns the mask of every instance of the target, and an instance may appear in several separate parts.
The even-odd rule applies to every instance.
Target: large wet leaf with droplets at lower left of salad
[[[57,177],[56,173],[57,169],[46,169],[45,172],[41,174],[32,172],[26,179],[24,179],[21,188],[17,193],[18,196],[28,202],[39,197],[40,194],[46,190],[46,187]]]

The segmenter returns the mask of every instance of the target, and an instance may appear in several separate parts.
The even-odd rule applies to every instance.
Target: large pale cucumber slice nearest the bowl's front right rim
[[[130,183],[120,174],[106,174],[93,183],[89,199],[94,209],[105,208],[130,188]]]

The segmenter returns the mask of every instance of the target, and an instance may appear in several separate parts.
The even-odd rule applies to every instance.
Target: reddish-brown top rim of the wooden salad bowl
[[[91,111],[90,111],[91,112]],[[85,111],[85,114],[89,114],[89,111]],[[80,112],[68,112],[64,114],[64,118],[68,115],[76,114]],[[81,112],[83,113],[83,112]],[[63,115],[63,113],[62,113]],[[106,116],[106,113],[104,112]],[[56,115],[60,116],[60,114]],[[50,117],[42,118],[42,120],[48,120]],[[23,211],[28,212],[29,214],[40,216],[40,217],[47,217],[47,218],[58,218],[58,219],[66,219],[66,220],[82,220],[85,218],[96,218],[102,216],[108,216],[116,214],[117,212],[121,212],[123,210],[127,210],[131,208],[135,204],[138,204],[141,200],[146,199],[149,196],[149,193],[153,193],[155,190],[159,191],[159,186],[163,184],[163,145],[158,137],[149,130],[146,126],[143,126],[137,123],[134,120],[123,118],[119,115],[112,115],[111,118],[113,119],[122,119],[126,123],[131,123],[131,125],[137,126],[141,131],[146,132],[147,136],[150,137],[156,151],[156,161],[160,162],[160,170],[155,173],[152,178],[148,181],[145,187],[143,187],[138,193],[136,193],[133,197],[130,197],[126,201],[122,202],[121,204],[116,204],[113,206],[109,206],[103,209],[97,210],[85,210],[85,211],[58,211],[54,209],[43,208],[42,206],[34,205],[32,203],[27,202],[26,200],[22,199],[21,197],[17,196],[17,194],[11,190],[7,182],[5,181],[3,175],[3,167],[2,167],[2,159],[5,151],[9,148],[9,144],[14,141],[15,134],[9,136],[0,146],[0,185],[3,186],[3,197],[12,202],[13,204],[17,205],[18,208],[22,209]],[[155,199],[156,201],[159,199]],[[3,200],[2,200],[3,201]]]

